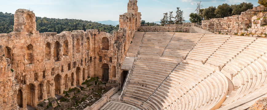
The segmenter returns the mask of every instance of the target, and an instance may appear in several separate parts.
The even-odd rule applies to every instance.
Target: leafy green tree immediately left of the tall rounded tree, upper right
[[[215,6],[209,6],[209,8],[205,8],[202,12],[202,17],[204,18],[204,20],[215,18],[216,17],[215,10],[216,10]]]

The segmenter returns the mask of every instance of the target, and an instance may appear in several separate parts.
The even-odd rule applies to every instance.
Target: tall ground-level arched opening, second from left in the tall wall
[[[30,105],[32,107],[33,106],[33,102],[34,102],[34,94],[35,94],[35,91],[34,91],[34,85],[33,84],[29,84],[27,85],[26,87],[26,94],[27,94],[27,105]]]

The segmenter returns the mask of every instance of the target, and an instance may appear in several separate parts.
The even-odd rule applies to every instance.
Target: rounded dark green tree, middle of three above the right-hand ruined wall
[[[218,5],[217,9],[215,10],[215,14],[217,18],[232,16],[232,9],[230,8],[230,5],[224,3],[222,5]]]

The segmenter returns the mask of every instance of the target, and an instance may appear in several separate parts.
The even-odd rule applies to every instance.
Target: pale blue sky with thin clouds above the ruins
[[[252,2],[259,5],[258,0],[201,0],[203,8],[218,6],[223,3],[240,4]],[[15,13],[17,9],[34,9],[35,16],[48,18],[68,18],[91,21],[119,20],[119,15],[127,12],[129,0],[0,0],[0,12]],[[163,13],[176,11],[180,7],[184,11],[185,20],[194,13],[199,0],[138,0],[139,12],[146,22],[159,21]]]

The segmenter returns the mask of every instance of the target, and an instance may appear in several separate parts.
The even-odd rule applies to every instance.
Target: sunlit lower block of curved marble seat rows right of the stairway
[[[181,62],[178,67],[183,70],[175,70],[169,76],[147,101],[149,105],[159,110],[193,110],[211,108],[223,102],[228,82],[222,73],[190,61]]]

